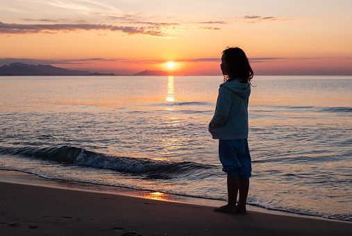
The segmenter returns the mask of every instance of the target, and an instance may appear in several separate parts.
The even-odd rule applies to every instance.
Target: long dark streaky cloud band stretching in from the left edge
[[[128,35],[166,36],[159,26],[133,27],[107,24],[5,24],[0,22],[0,34],[21,35],[75,31],[121,31]]]

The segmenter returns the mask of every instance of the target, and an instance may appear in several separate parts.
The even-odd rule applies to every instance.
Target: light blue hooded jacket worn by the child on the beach
[[[248,101],[251,85],[239,79],[220,85],[214,117],[209,132],[213,139],[238,140],[248,138]]]

